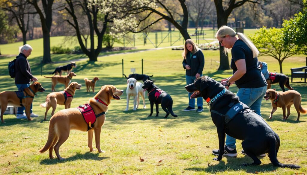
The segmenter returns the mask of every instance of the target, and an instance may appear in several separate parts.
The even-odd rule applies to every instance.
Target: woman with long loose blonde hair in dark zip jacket
[[[191,39],[188,39],[185,41],[185,50],[183,51],[182,56],[182,65],[186,70],[185,80],[187,85],[189,85],[193,83],[196,78],[203,76],[202,74],[205,64],[204,54]],[[183,111],[195,111],[195,98],[191,99],[191,95],[192,93],[188,93],[189,106]],[[198,97],[196,112],[202,112],[203,110],[203,97]]]

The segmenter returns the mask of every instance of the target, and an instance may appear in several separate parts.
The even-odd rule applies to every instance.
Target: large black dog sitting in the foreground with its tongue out
[[[260,165],[261,161],[257,158],[257,155],[268,153],[271,162],[275,166],[300,168],[298,165],[278,162],[279,136],[261,116],[252,110],[239,110],[239,108],[236,108],[238,106],[235,104],[239,103],[239,97],[225,89],[220,82],[210,77],[202,76],[197,78],[194,83],[185,86],[185,89],[192,93],[192,98],[203,97],[210,106],[211,118],[217,128],[220,149],[219,156],[214,160],[220,161],[222,159],[226,133],[235,139],[243,140],[243,150],[254,160],[251,164],[243,163],[243,166]],[[243,103],[240,102],[239,104]],[[237,110],[239,113],[233,115],[231,119],[229,111],[232,110]]]

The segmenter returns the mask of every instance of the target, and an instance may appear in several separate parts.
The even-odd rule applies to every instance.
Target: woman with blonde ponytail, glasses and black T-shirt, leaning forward
[[[244,36],[243,33],[236,33],[227,26],[222,26],[216,32],[216,38],[221,46],[224,47],[225,54],[231,49],[230,67],[233,70],[230,78],[221,80],[222,85],[228,87],[235,83],[239,88],[237,96],[240,101],[255,110],[261,116],[261,101],[266,93],[266,79],[261,73],[258,63],[259,51],[255,45]],[[235,149],[235,138],[226,135],[226,146],[224,148],[224,156],[237,156]],[[218,155],[219,150],[213,150],[213,154]],[[245,154],[242,150],[242,154]],[[265,154],[260,155],[262,157]]]

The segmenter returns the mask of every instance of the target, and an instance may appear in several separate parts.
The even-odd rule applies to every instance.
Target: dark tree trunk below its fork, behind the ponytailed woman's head
[[[222,14],[217,13],[217,28],[220,28],[222,25],[227,25],[227,17]],[[229,67],[229,59],[228,54],[224,54],[224,47],[220,44],[220,67],[218,70],[228,70]]]

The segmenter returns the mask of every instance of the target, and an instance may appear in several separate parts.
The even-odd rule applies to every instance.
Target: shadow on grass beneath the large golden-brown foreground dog
[[[56,157],[53,159],[44,159],[40,162],[41,165],[54,165],[58,163],[64,163],[64,162],[72,162],[75,160],[96,160],[96,161],[101,161],[104,159],[107,159],[109,157],[98,157],[99,153],[91,153],[87,152],[85,154],[76,154],[72,157],[65,158],[64,160],[58,160]]]

